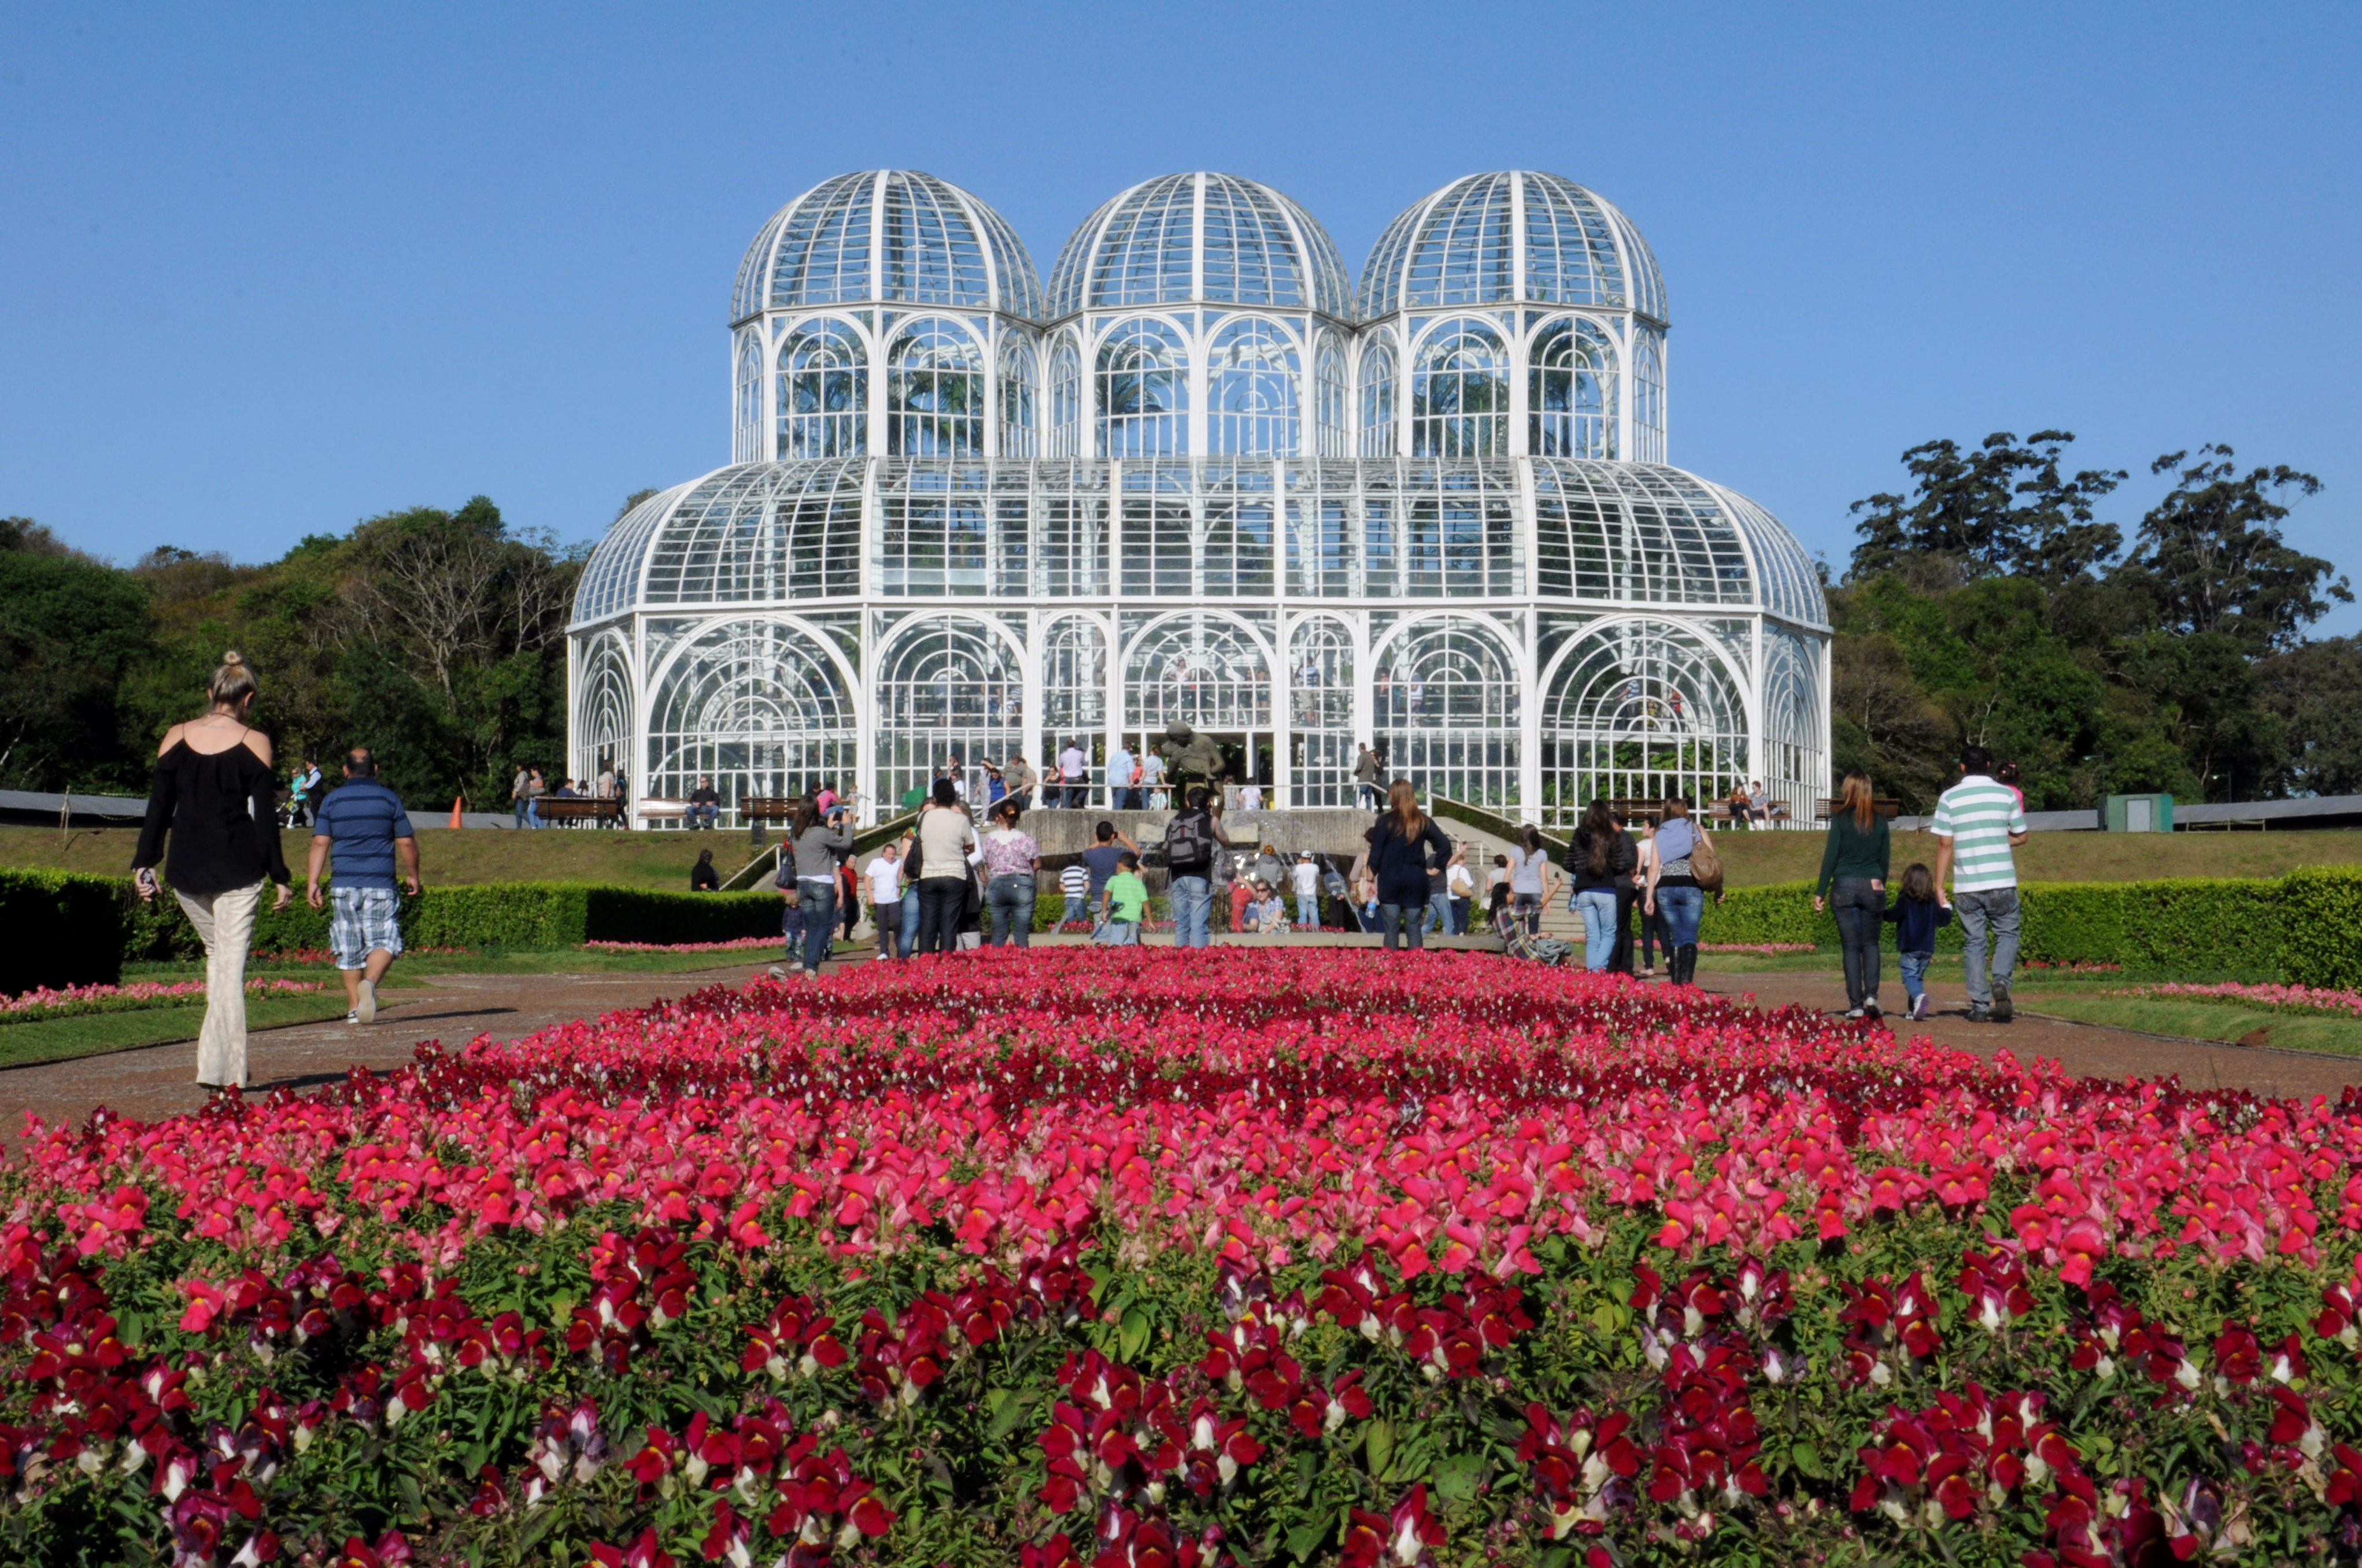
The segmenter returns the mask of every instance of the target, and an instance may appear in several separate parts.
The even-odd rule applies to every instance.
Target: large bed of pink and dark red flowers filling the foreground
[[[879,963],[35,1129],[0,1195],[26,1561],[2362,1544],[2353,1105],[1613,975]]]

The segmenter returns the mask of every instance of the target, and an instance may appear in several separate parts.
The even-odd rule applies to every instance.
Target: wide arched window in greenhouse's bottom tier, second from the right
[[[1746,706],[1698,633],[1618,621],[1590,633],[1542,704],[1542,815],[1573,827],[1594,798],[1703,803],[1748,777]]]

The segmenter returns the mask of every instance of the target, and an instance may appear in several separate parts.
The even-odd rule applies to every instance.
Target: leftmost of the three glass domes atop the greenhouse
[[[869,300],[1039,316],[1042,281],[1016,229],[983,201],[933,175],[874,168],[770,215],[739,262],[730,321]]]

